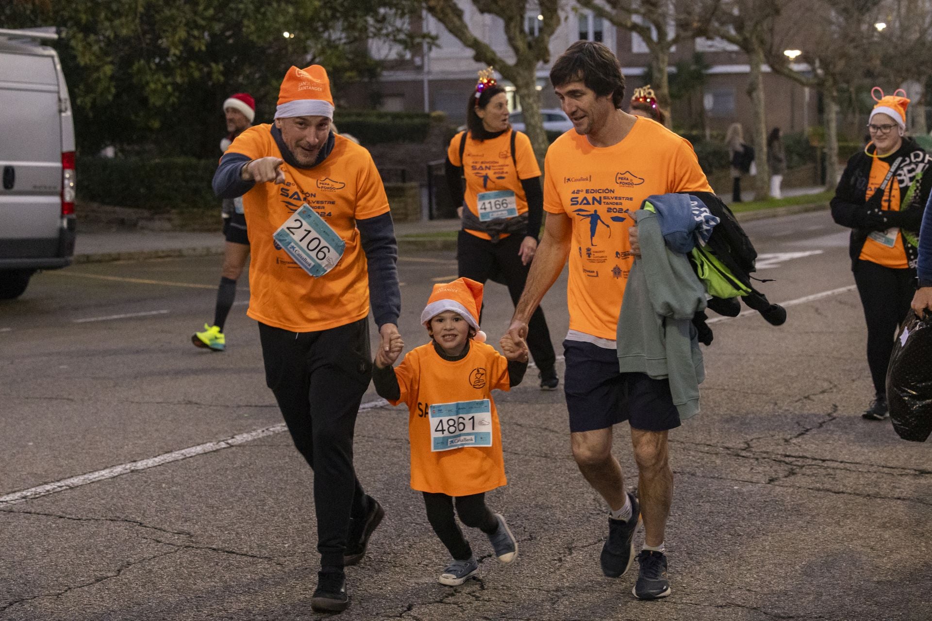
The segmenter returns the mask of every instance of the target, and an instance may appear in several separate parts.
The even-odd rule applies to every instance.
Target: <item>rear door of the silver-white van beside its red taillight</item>
[[[58,254],[62,223],[59,107],[53,56],[0,51],[0,259]]]

